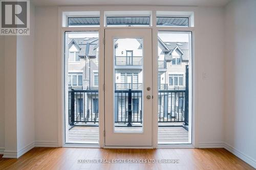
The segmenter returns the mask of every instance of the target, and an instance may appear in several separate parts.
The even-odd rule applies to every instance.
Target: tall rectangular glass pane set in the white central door
[[[125,75],[125,83],[122,89],[115,89],[115,132],[142,132],[143,131],[143,119],[142,119],[142,82],[143,82],[143,66],[142,63],[139,66],[134,67],[133,57],[143,60],[143,38],[114,38],[115,49],[113,60],[121,58],[123,51],[126,50],[126,65],[114,66],[115,72],[115,86],[120,83],[119,77]],[[139,48],[141,47],[141,48]],[[135,55],[135,56],[134,56]],[[118,57],[117,57],[118,56]],[[117,63],[117,62],[115,62]],[[122,71],[122,75],[120,72]],[[137,71],[137,74],[133,73]],[[133,80],[136,84],[133,83]],[[136,85],[140,82],[141,88],[136,88]],[[136,103],[136,106],[134,102]],[[136,110],[135,110],[136,109]],[[132,127],[132,128],[131,128]]]

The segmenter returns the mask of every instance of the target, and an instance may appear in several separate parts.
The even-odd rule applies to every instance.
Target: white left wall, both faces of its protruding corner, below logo
[[[0,151],[17,158],[34,147],[34,6],[30,36],[0,38]]]

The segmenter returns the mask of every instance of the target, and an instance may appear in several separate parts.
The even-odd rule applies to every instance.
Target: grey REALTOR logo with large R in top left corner
[[[29,35],[29,1],[1,1],[1,35]]]

